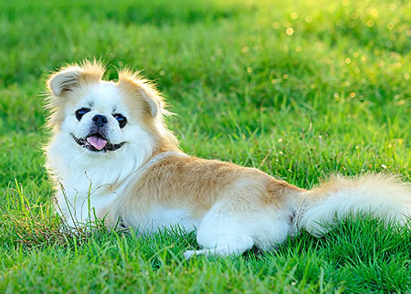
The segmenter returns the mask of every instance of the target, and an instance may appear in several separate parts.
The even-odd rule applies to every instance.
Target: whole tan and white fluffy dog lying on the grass
[[[103,79],[96,60],[47,79],[47,172],[68,227],[102,219],[150,234],[196,230],[196,255],[269,250],[305,229],[314,236],[352,214],[408,226],[411,185],[389,174],[336,175],[311,190],[255,168],[185,154],[164,124],[161,93],[130,69]]]

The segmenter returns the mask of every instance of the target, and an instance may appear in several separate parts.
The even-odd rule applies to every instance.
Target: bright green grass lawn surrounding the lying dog
[[[41,146],[47,74],[97,57],[107,78],[128,65],[156,81],[184,152],[303,188],[410,181],[410,23],[397,0],[1,1],[0,292],[409,292],[410,232],[373,219],[189,261],[195,235],[177,228],[65,236]]]

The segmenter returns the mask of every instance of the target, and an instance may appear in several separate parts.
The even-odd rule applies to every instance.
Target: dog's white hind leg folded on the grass
[[[184,257],[238,256],[254,246],[263,250],[277,247],[292,231],[290,215],[290,211],[281,211],[275,206],[216,203],[197,229],[201,250],[186,251]]]

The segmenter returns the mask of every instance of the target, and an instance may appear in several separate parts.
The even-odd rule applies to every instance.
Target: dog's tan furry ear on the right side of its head
[[[131,90],[134,95],[144,102],[144,110],[151,117],[160,113],[168,113],[163,110],[163,97],[147,79],[142,79],[138,73],[124,69],[119,72],[119,86]]]

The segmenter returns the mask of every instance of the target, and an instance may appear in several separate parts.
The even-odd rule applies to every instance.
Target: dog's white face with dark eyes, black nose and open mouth
[[[69,94],[62,131],[69,132],[74,142],[90,152],[115,152],[132,142],[140,125],[128,120],[130,113],[121,90],[111,82],[100,81]]]

